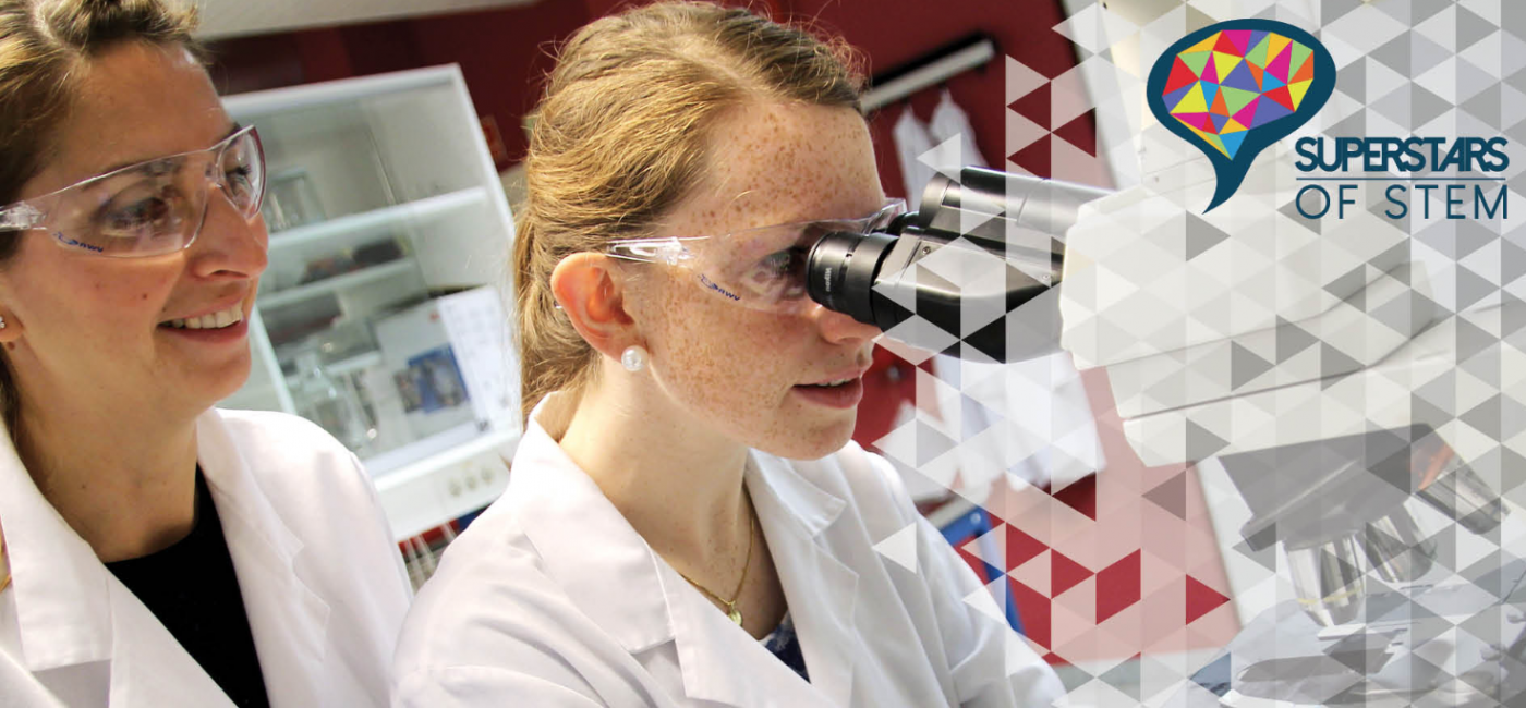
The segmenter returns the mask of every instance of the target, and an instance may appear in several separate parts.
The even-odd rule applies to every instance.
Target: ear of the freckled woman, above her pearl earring
[[[603,253],[572,253],[551,272],[551,294],[572,328],[601,354],[620,359],[642,343],[626,311],[624,275]]]

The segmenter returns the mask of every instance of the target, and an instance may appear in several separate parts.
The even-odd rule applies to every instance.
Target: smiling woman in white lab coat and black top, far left
[[[0,0],[0,705],[386,705],[409,587],[356,458],[249,375],[258,134],[194,15]]]

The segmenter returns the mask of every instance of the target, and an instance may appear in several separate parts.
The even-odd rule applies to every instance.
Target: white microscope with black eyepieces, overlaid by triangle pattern
[[[1265,601],[1170,705],[1526,705],[1526,304],[1453,298],[1381,192],[1299,223],[1285,157],[1212,220],[1201,159],[1116,194],[966,168],[823,238],[807,288],[922,349],[1105,368],[1144,464],[1239,499]]]

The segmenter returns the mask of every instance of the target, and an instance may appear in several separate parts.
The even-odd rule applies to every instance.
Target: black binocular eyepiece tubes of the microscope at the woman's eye
[[[917,348],[993,362],[1050,354],[1059,348],[1062,237],[1082,204],[1106,194],[980,168],[957,182],[937,175],[922,208],[885,232],[818,241],[807,293]],[[899,327],[914,316],[925,322]]]

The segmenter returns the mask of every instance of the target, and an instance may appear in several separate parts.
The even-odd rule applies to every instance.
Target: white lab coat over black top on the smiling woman
[[[0,703],[232,708],[38,493],[0,429]],[[386,705],[410,587],[360,462],[291,415],[209,410],[197,456],[238,574],[270,705]]]

